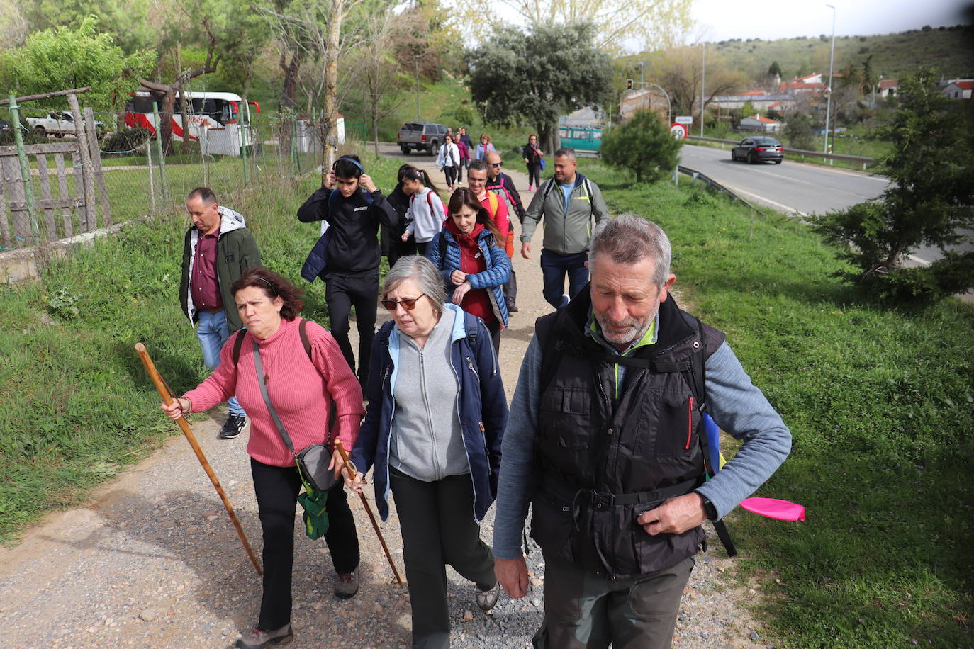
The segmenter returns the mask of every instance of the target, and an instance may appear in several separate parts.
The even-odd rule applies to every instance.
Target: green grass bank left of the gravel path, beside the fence
[[[359,153],[391,189],[395,161]],[[327,325],[323,286],[300,278],[318,227],[295,215],[318,182],[312,173],[218,196],[244,213],[265,266],[307,290],[308,317]],[[15,542],[46,512],[83,503],[93,487],[178,434],[160,416],[132,346],[146,344],[174,390],[206,376],[178,306],[188,226],[181,208],[133,221],[52,263],[39,281],[0,289],[0,402],[8,406],[0,409],[0,543]]]

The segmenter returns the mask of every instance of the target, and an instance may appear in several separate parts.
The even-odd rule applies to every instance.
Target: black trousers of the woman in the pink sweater
[[[294,508],[301,490],[296,466],[271,466],[250,458],[250,474],[257,496],[264,534],[264,594],[260,600],[260,629],[281,629],[291,621],[291,572],[294,565]],[[342,482],[328,491],[328,531],[324,541],[338,574],[358,567],[356,520]]]

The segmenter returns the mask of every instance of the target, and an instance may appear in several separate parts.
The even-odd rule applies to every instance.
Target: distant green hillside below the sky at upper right
[[[790,79],[829,69],[831,37],[788,38],[775,41],[732,39],[708,43],[707,49],[723,54],[731,68],[751,79],[767,74],[777,61],[782,77]],[[860,66],[870,54],[873,70],[887,79],[897,79],[918,68],[934,66],[944,78],[974,76],[974,27],[970,25],[915,29],[899,34],[837,36],[835,69]]]

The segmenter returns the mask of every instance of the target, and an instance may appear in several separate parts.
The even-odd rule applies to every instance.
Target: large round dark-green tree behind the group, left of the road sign
[[[543,149],[557,148],[558,118],[609,96],[612,63],[593,44],[588,23],[502,27],[465,55],[470,95],[486,122],[526,121]]]

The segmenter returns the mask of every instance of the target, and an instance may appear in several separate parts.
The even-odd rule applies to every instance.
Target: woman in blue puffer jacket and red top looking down
[[[427,257],[439,270],[447,302],[484,321],[495,352],[507,326],[503,286],[510,276],[504,239],[476,195],[462,187],[450,197],[449,218],[433,236]],[[500,242],[500,243],[499,243]]]

